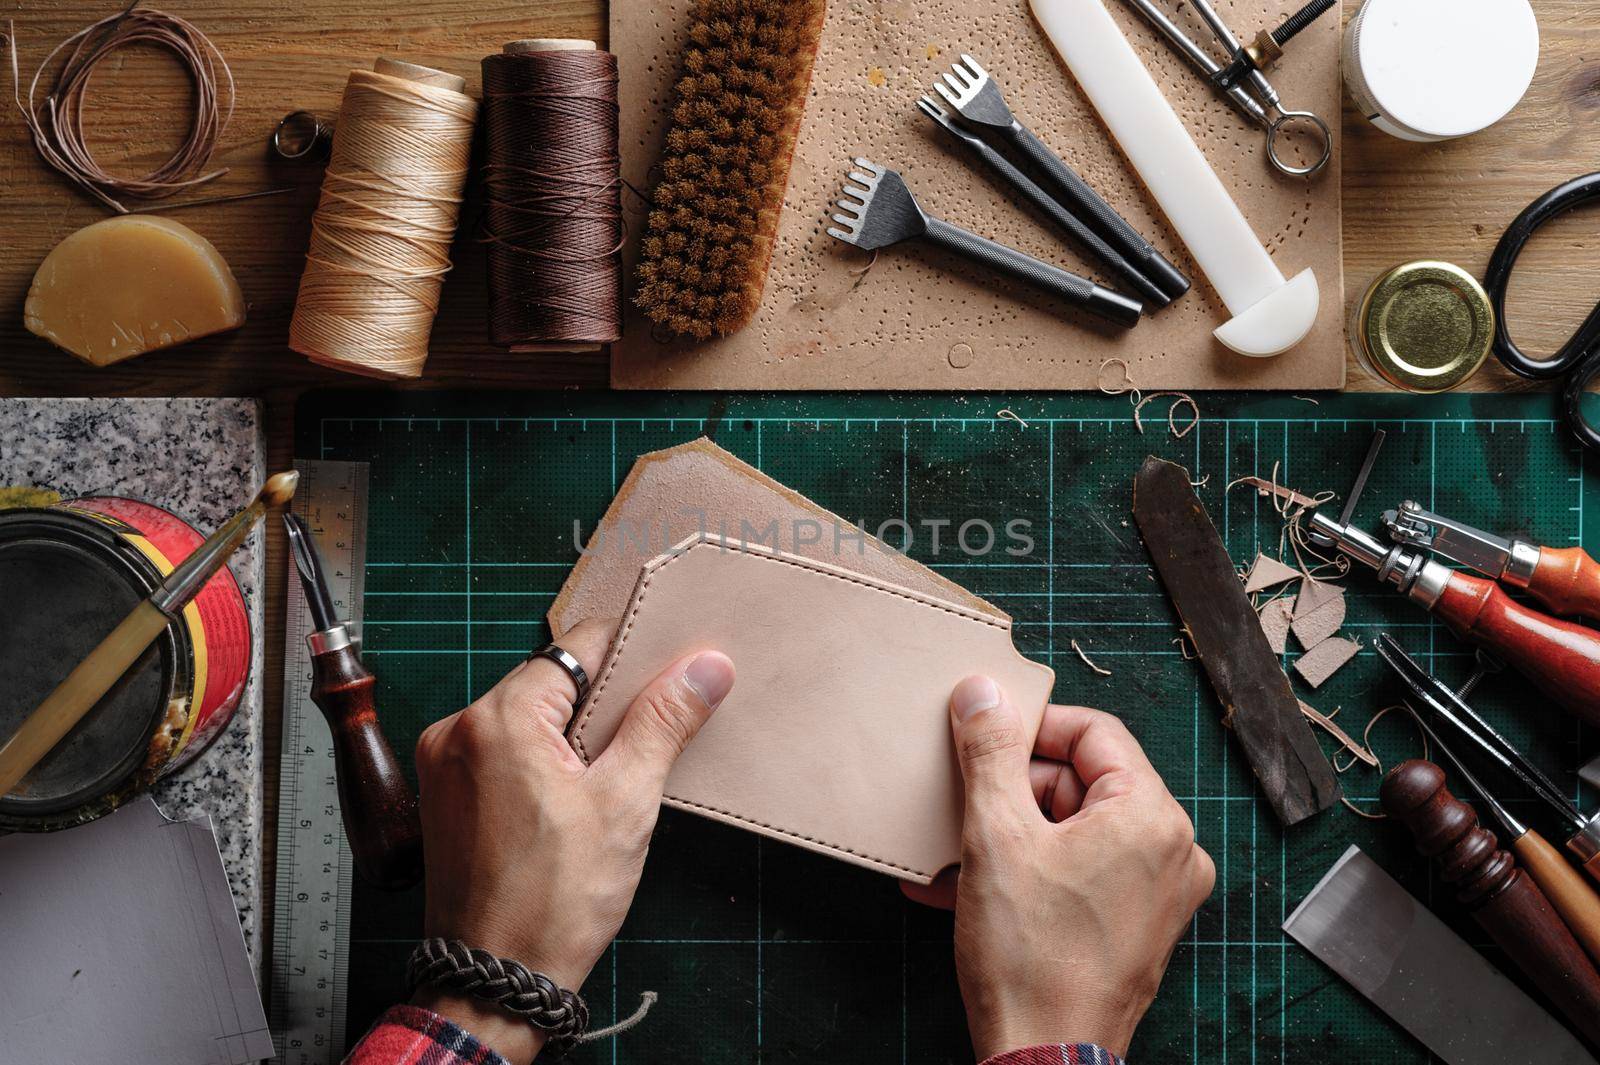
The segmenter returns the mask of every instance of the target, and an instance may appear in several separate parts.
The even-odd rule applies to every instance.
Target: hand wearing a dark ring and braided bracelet
[[[560,643],[594,676],[613,630],[584,622]],[[416,772],[424,934],[515,958],[576,990],[622,927],[667,772],[733,688],[733,662],[707,651],[667,667],[589,766],[563,736],[573,688],[554,662],[523,662],[422,732]],[[419,988],[413,1001],[512,1062],[531,1062],[544,1044],[486,1003],[434,988]]]

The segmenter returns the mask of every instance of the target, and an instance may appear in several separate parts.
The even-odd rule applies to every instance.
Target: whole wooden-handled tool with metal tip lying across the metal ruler
[[[416,795],[378,724],[376,678],[362,665],[349,628],[333,609],[322,553],[306,520],[283,515],[312,633],[312,702],[333,732],[339,816],[355,872],[374,888],[398,891],[422,876],[422,825]]]

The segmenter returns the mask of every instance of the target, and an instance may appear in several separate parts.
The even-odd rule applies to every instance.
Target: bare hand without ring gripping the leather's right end
[[[950,723],[966,780],[962,865],[904,888],[955,905],[978,1059],[1040,1043],[1126,1054],[1216,880],[1189,816],[1099,710],[1048,707],[1029,758],[1016,708],[970,676]]]

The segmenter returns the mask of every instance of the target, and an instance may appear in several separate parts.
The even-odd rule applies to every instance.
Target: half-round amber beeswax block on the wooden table
[[[45,256],[22,323],[96,366],[245,323],[245,296],[211,241],[165,217],[85,225]]]

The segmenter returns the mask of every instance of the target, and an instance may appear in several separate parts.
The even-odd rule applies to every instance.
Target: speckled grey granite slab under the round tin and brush
[[[0,400],[0,486],[130,496],[210,534],[266,477],[261,406],[234,398]],[[261,673],[266,542],[230,560],[254,641],[245,697],[211,750],[155,787],[173,819],[210,816],[251,961],[261,959]]]

